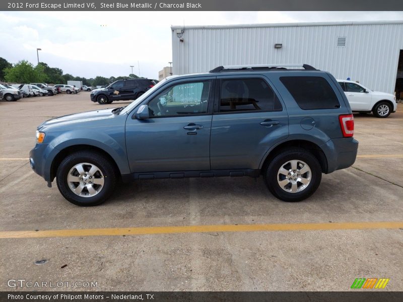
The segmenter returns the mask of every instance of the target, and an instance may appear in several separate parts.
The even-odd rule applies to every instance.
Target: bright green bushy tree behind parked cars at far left
[[[21,60],[13,67],[8,67],[5,70],[5,80],[14,83],[32,83],[44,82],[46,75],[43,66],[37,65],[34,67],[27,60]]]

